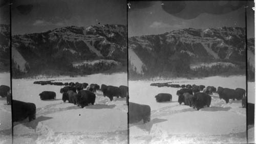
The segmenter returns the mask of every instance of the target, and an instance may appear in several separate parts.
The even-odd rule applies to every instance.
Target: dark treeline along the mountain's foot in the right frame
[[[129,61],[129,80],[150,80],[152,78],[204,78],[211,76],[228,77],[232,75],[246,75],[246,65],[242,62],[232,62],[237,66],[224,66],[221,64],[209,66],[201,66],[194,69],[190,69],[189,58],[183,57],[177,58],[172,63],[161,64],[162,68],[153,68],[142,66],[144,74],[136,73],[134,65]],[[135,68],[136,69],[136,68]],[[254,71],[248,70],[248,79],[252,80],[254,77]],[[253,69],[254,70],[254,69]],[[250,73],[250,74],[249,74]],[[254,78],[253,78],[254,79]]]

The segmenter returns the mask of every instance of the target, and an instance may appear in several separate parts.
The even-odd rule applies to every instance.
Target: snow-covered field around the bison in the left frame
[[[79,82],[127,86],[127,74],[90,75],[88,77],[39,79],[55,82]],[[15,79],[13,99],[36,105],[36,119],[15,122],[14,143],[127,143],[127,105],[125,98],[111,102],[97,91],[94,105],[83,109],[63,103],[59,92],[63,86],[33,84],[38,79]],[[55,91],[56,100],[41,101],[39,93]]]

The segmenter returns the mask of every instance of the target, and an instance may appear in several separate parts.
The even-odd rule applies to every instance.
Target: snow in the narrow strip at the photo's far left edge
[[[0,73],[0,85],[11,85],[10,73]],[[7,105],[6,98],[0,97],[0,143],[12,141],[12,113],[11,106]]]

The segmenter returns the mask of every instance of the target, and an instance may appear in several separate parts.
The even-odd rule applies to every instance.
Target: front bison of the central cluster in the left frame
[[[95,93],[88,91],[88,90],[80,90],[78,91],[78,94],[75,95],[76,102],[78,106],[81,108],[88,106],[88,104],[94,105],[96,95]]]

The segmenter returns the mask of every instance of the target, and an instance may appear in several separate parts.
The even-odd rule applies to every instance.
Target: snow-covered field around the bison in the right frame
[[[130,124],[130,143],[246,143],[246,109],[241,101],[226,104],[213,93],[210,107],[197,111],[184,103],[179,105],[176,92],[180,88],[150,86],[157,82],[246,89],[245,76],[129,81],[129,101],[151,107],[151,122]],[[158,93],[172,94],[173,101],[157,103]]]

